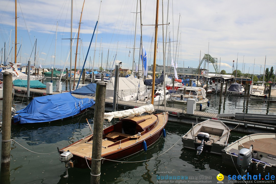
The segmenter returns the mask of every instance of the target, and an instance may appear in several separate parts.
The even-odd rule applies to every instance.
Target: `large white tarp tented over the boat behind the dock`
[[[113,98],[115,77],[110,78],[106,87],[105,98]],[[119,77],[118,85],[118,99],[123,96],[129,96],[133,93],[144,92],[147,87],[144,85],[144,81],[137,79],[131,74],[129,77]]]

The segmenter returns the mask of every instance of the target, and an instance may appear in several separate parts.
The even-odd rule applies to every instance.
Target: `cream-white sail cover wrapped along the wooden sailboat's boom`
[[[149,105],[140,106],[134,109],[104,113],[103,119],[107,119],[108,122],[110,122],[113,118],[133,117],[135,115],[141,115],[143,113],[153,113],[153,112],[154,112],[154,106],[152,104],[149,104]]]

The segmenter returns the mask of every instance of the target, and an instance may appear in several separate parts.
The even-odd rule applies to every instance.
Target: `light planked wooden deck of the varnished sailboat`
[[[142,127],[145,130],[151,124],[154,124],[157,120],[157,123],[152,128],[152,131],[147,131],[146,133],[141,132],[141,136],[129,135],[120,132],[111,132],[106,135],[103,135],[102,139],[102,156],[112,154],[114,152],[126,149],[130,146],[137,144],[137,142],[142,142],[147,137],[154,135],[156,132],[160,132],[160,129],[163,129],[163,125],[166,124],[166,118],[168,114],[166,114],[166,118],[164,118],[164,114],[158,114],[158,119],[154,114],[139,116],[139,117],[129,117],[125,119],[131,119],[137,122],[137,126]],[[138,132],[136,132],[138,133]],[[91,136],[89,135],[83,138],[81,141],[72,144],[66,148],[63,148],[64,151],[69,150],[74,155],[78,155],[80,157],[91,158],[92,155],[92,145],[93,140],[91,140]],[[117,139],[120,137],[120,139]],[[141,138],[142,137],[142,138]],[[144,139],[143,139],[144,138]]]

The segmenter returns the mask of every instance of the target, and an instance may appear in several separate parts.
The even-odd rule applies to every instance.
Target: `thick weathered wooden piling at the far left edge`
[[[12,109],[12,73],[3,73],[3,114],[2,114],[2,145],[1,170],[10,167],[10,127]]]

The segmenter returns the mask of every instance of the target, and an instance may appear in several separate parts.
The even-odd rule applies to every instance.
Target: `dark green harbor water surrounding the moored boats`
[[[48,81],[43,81],[43,83]],[[55,85],[54,85],[55,86]],[[208,95],[210,106],[205,111],[212,113],[236,113],[242,109],[235,108],[235,100],[239,97],[228,96],[222,98],[219,105],[219,95]],[[16,110],[25,108],[30,103],[29,99],[14,97],[12,106]],[[237,104],[242,104],[238,101]],[[248,113],[275,114],[272,108],[275,103],[250,102],[255,109]],[[65,164],[59,161],[59,149],[76,142],[91,134],[85,119],[93,126],[94,112],[92,110],[73,119],[38,124],[24,124],[11,127],[11,157],[10,181],[6,183],[90,183],[90,169],[70,168],[69,177],[65,176]],[[2,119],[2,101],[0,101],[0,121]],[[196,120],[187,119],[186,121]],[[115,122],[105,122],[110,126]],[[197,155],[195,150],[183,148],[181,141],[191,125],[168,122],[166,137],[160,139],[147,152],[124,158],[122,162],[103,161],[101,166],[101,183],[187,183],[187,181],[205,181],[217,183],[216,176],[221,173],[224,178],[228,175],[238,175],[235,167],[222,163],[221,156],[202,153]],[[247,134],[231,132],[229,143],[238,140]],[[2,132],[0,133],[0,137]],[[260,169],[260,172],[262,170]],[[187,179],[166,179],[168,176],[183,176]],[[162,179],[163,178],[163,179]],[[224,179],[224,181],[226,181]],[[188,182],[189,183],[189,182]]]

